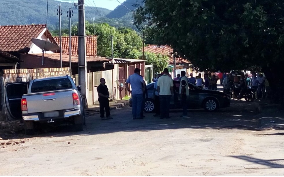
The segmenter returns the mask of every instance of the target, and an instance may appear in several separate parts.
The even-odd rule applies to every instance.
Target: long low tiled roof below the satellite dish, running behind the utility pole
[[[40,60],[42,59],[42,54],[25,54],[25,55],[36,56]],[[44,53],[44,58],[60,61],[60,53]],[[86,59],[87,59],[87,62],[103,61],[103,62],[111,63],[111,60],[106,59],[105,57],[86,56]],[[79,60],[78,55],[71,55],[71,62],[72,63],[77,63],[78,60]],[[68,54],[62,53],[62,62],[68,62],[69,63],[69,55]]]

